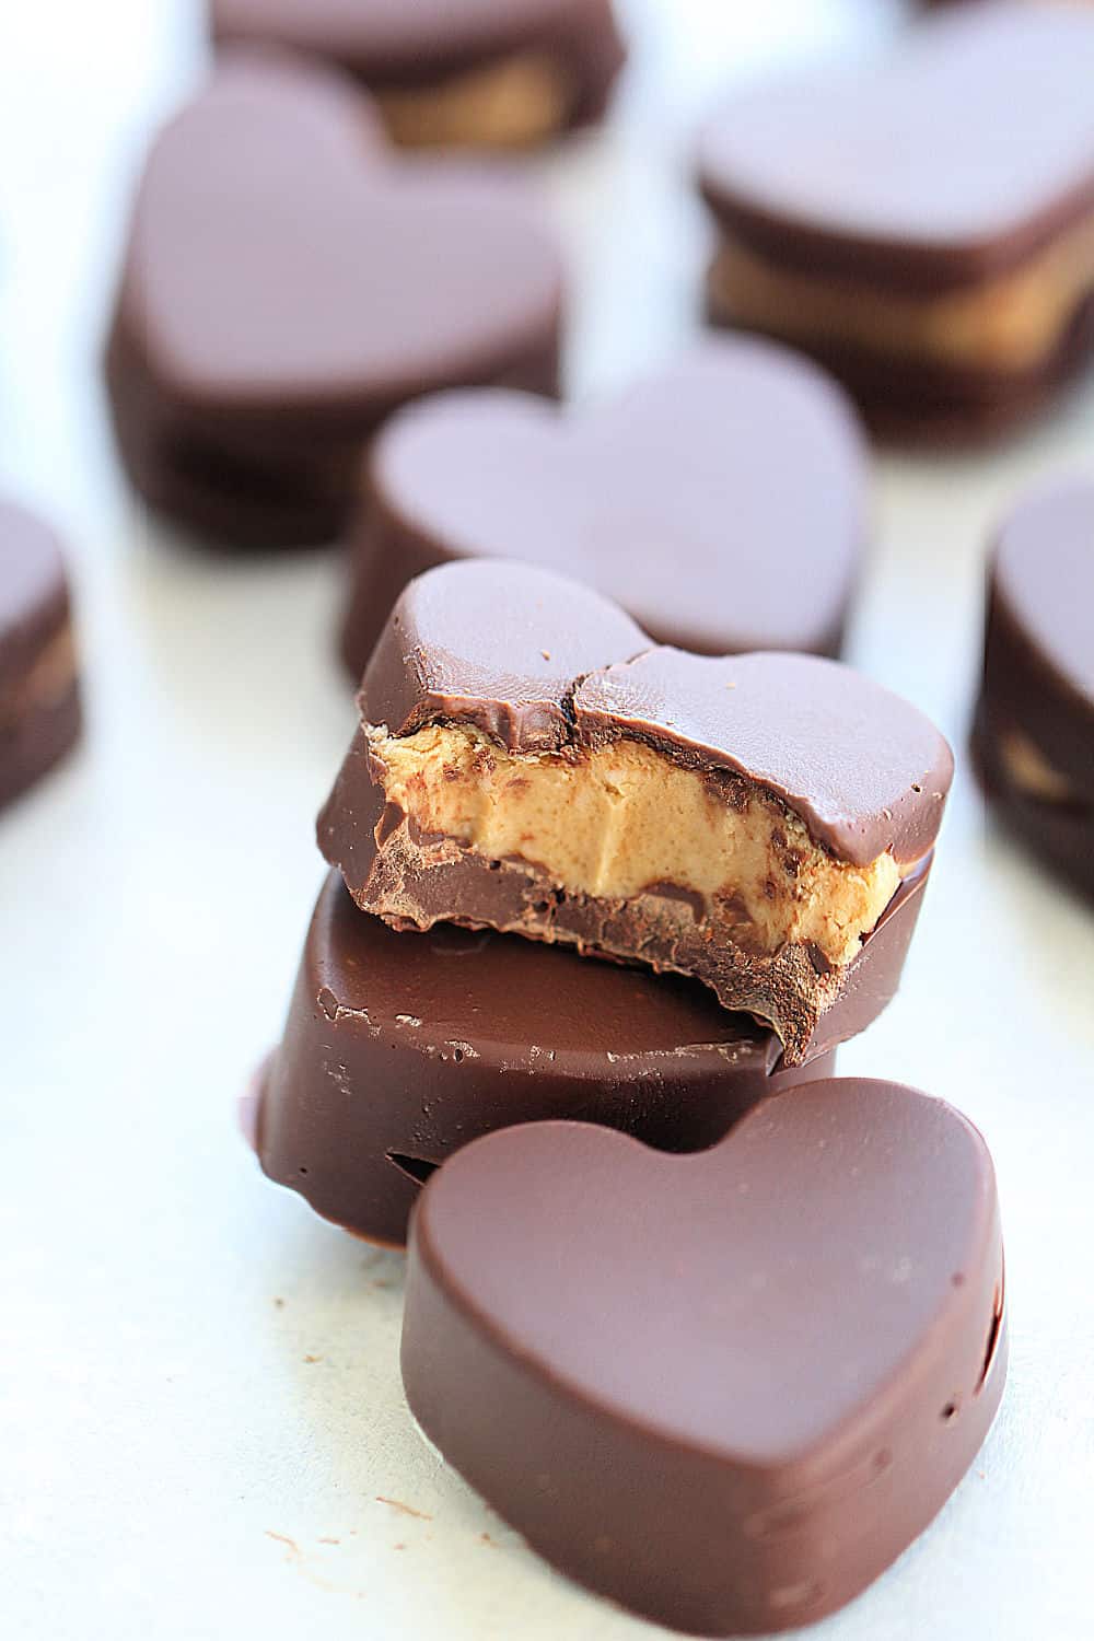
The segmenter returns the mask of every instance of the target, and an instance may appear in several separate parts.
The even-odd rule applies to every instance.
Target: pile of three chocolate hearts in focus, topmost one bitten
[[[264,1170],[374,1239],[417,1201],[412,1410],[556,1566],[689,1630],[830,1611],[1002,1390],[982,1140],[832,1078],[950,748],[838,661],[658,647],[505,560],[412,581],[358,701]]]

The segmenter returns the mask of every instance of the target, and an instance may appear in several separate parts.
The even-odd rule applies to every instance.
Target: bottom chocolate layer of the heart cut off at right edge
[[[978,779],[992,812],[1060,878],[1094,899],[1094,804],[1033,798],[1015,784],[1001,752],[1004,725],[981,697],[973,722],[971,752]]]

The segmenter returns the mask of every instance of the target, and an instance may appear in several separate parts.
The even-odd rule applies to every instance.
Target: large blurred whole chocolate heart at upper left
[[[323,540],[407,399],[554,392],[559,313],[558,256],[512,179],[395,161],[333,72],[226,59],[138,190],[107,358],[120,451],[198,530]]]

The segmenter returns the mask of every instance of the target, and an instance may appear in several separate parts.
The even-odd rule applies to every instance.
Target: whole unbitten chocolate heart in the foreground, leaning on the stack
[[[412,1221],[426,1436],[563,1572],[687,1631],[792,1628],[876,1579],[964,1475],[1005,1355],[987,1149],[894,1083],[764,1099],[695,1157],[507,1129]]]

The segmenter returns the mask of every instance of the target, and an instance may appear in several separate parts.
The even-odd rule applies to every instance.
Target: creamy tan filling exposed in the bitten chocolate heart
[[[641,742],[508,753],[469,727],[369,730],[385,796],[426,834],[487,860],[526,860],[571,894],[631,899],[672,884],[702,896],[748,950],[812,942],[848,963],[900,873],[835,860],[759,786],[733,798]],[[740,930],[740,932],[738,932]]]

